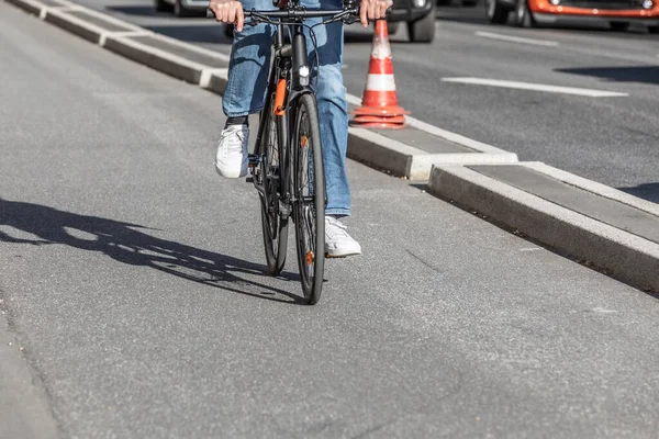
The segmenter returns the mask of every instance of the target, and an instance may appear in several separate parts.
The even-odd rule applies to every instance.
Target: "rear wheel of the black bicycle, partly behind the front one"
[[[260,183],[264,192],[260,194],[261,228],[264,235],[264,249],[266,254],[267,272],[278,275],[283,270],[288,247],[288,218],[283,219],[279,211],[280,194],[280,162],[279,162],[279,136],[277,133],[277,120],[269,111],[264,111],[261,117],[265,120],[265,133],[259,145],[261,157]]]

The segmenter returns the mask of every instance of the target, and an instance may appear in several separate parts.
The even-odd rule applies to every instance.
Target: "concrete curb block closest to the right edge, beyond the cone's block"
[[[583,182],[577,176],[543,164],[518,164]],[[563,180],[565,181],[565,180]],[[585,180],[582,189],[604,198],[632,201],[627,194]],[[578,184],[576,184],[578,185]],[[619,192],[619,193],[614,193]],[[554,204],[474,170],[456,165],[434,166],[428,192],[476,210],[494,222],[515,228],[528,237],[577,259],[592,262],[606,274],[646,291],[659,292],[659,245],[597,219]],[[613,195],[613,196],[610,196]],[[656,209],[651,209],[656,211]],[[651,212],[650,212],[651,213]]]

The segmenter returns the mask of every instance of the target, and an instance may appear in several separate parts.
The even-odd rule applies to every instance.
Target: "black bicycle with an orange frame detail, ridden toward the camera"
[[[295,248],[302,292],[308,304],[321,297],[325,267],[325,176],[317,106],[311,87],[311,67],[303,34],[304,19],[321,18],[320,24],[359,21],[357,0],[344,1],[340,10],[315,10],[289,0],[272,11],[244,11],[245,25],[277,26],[272,37],[272,61],[264,110],[260,112],[254,153],[249,155],[248,181],[259,194],[267,271],[278,275],[288,251],[288,226],[295,225]],[[208,9],[208,18],[215,18]],[[284,43],[284,26],[292,29]],[[316,66],[320,66],[317,52]]]

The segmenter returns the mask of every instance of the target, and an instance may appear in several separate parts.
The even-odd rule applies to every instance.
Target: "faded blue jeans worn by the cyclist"
[[[323,9],[340,9],[342,0],[321,0]],[[276,9],[271,0],[243,0],[243,8],[249,10]],[[319,0],[300,0],[306,8],[321,8]],[[316,19],[306,20],[315,24]],[[228,66],[228,83],[224,90],[223,110],[230,117],[258,113],[265,105],[270,65],[271,35],[276,27],[269,24],[246,25],[243,32],[234,29],[234,42]],[[343,23],[314,27],[320,66],[313,56],[313,45],[309,30],[304,30],[309,63],[317,75],[316,99],[321,123],[321,142],[325,167],[328,215],[350,215],[350,188],[346,173],[346,150],[348,146],[348,108],[346,88],[343,85]],[[312,81],[312,83],[314,83]]]

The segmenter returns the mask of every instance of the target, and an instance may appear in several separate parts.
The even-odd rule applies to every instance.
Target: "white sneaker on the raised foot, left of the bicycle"
[[[249,127],[228,125],[222,131],[215,154],[215,170],[226,178],[247,176]]]

